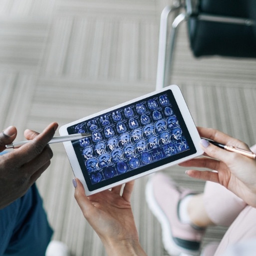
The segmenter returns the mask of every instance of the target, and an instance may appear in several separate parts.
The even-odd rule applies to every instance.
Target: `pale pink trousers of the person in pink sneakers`
[[[206,183],[204,202],[213,223],[229,227],[214,256],[221,256],[229,245],[256,238],[256,208],[213,182]]]

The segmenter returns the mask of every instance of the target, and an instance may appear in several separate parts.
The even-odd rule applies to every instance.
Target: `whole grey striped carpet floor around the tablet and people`
[[[159,20],[167,0],[0,0],[0,123],[42,131],[96,113],[155,89]],[[256,143],[255,60],[195,59],[186,23],[176,43],[170,83],[178,84],[196,125]],[[56,132],[58,135],[58,132]],[[54,239],[72,256],[105,256],[84,220],[62,144],[37,181]],[[202,192],[204,182],[185,169],[164,170],[181,186]],[[140,241],[149,256],[167,256],[161,228],[145,202],[147,177],[138,179],[132,205]],[[226,228],[207,230],[203,247]]]

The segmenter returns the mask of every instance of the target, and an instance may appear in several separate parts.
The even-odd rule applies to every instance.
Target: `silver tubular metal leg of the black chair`
[[[161,14],[160,20],[160,33],[159,33],[159,49],[158,49],[158,64],[157,64],[157,82],[156,82],[156,90],[160,90],[161,88],[168,85],[166,75],[166,70],[169,70],[172,61],[174,43],[176,30],[178,25],[186,20],[187,15],[185,13],[180,13],[172,23],[172,29],[170,34],[170,53],[166,54],[167,51],[167,30],[168,30],[168,17],[171,11],[177,8],[171,8],[171,6],[166,6]],[[168,60],[166,61],[166,56],[168,56]],[[167,63],[167,66],[166,66]]]

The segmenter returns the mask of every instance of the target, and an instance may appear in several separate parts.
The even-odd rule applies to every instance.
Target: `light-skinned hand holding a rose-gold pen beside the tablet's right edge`
[[[198,131],[203,138],[250,151],[246,143],[218,130],[198,127]],[[189,160],[180,166],[207,168],[212,171],[188,170],[186,173],[192,178],[217,182],[247,204],[256,207],[256,160],[226,151],[206,140],[201,140],[201,146],[205,151],[205,157]]]

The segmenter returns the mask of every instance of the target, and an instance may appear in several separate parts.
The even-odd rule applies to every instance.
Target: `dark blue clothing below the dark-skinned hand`
[[[45,256],[52,234],[35,184],[0,210],[0,256]]]

